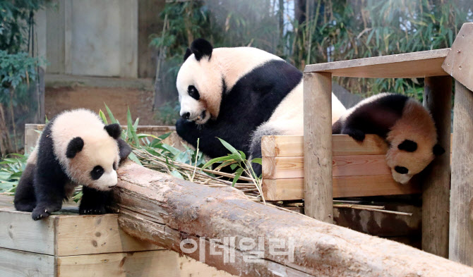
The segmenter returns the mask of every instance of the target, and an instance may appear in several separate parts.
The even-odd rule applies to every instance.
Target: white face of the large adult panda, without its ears
[[[222,75],[205,57],[189,56],[177,74],[180,116],[198,124],[217,118],[222,99]]]

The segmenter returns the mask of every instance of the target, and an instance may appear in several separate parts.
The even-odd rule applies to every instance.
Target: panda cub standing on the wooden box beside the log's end
[[[116,167],[131,147],[121,140],[119,124],[104,125],[86,109],[65,111],[44,128],[15,193],[18,211],[38,220],[59,211],[74,187],[83,185],[80,214],[104,214]]]

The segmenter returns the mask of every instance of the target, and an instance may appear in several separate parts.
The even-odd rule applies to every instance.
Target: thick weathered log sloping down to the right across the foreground
[[[231,187],[197,185],[129,162],[119,168],[114,199],[126,233],[237,276],[473,275],[397,242],[253,202]],[[250,254],[261,259],[248,262]]]

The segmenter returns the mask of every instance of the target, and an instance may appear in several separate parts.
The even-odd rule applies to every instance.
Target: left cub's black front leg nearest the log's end
[[[105,205],[108,202],[110,192],[95,190],[91,187],[82,187],[82,199],[79,205],[79,214],[107,214]]]

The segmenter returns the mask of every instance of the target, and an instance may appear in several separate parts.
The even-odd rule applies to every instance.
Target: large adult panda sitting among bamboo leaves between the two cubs
[[[263,135],[303,135],[302,73],[279,57],[251,47],[216,48],[196,39],[176,80],[181,118],[176,131],[215,158],[228,154],[216,137],[252,158]],[[332,122],[345,107],[332,94]],[[256,174],[261,166],[253,164]]]

